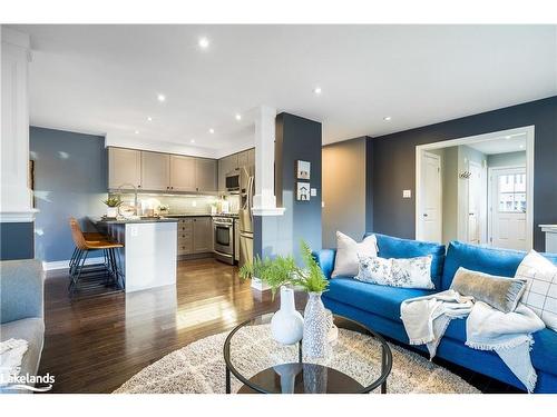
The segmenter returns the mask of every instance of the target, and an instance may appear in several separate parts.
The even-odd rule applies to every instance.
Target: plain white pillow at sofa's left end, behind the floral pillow
[[[334,258],[334,270],[331,277],[358,275],[360,265],[359,257],[378,256],[378,240],[375,235],[370,235],[360,244],[340,231],[336,231],[336,256]]]

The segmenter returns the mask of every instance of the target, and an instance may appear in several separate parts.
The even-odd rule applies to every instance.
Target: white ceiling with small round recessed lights
[[[557,95],[556,26],[16,29],[31,34],[32,125],[198,155],[252,145],[235,113],[258,105],[322,121],[330,143]]]

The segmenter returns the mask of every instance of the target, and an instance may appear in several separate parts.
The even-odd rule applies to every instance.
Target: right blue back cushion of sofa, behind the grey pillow
[[[379,238],[378,245],[381,245]],[[381,250],[381,246],[379,246],[379,249]],[[551,262],[557,264],[557,254],[541,255]],[[452,278],[460,267],[479,272],[512,278],[525,256],[526,252],[519,250],[498,249],[451,241],[444,259],[440,290],[449,289]]]

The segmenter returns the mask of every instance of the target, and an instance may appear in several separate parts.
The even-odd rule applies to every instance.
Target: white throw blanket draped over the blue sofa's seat
[[[436,356],[450,320],[468,317],[466,345],[496,351],[528,393],[534,391],[537,375],[530,360],[531,334],[545,325],[528,307],[519,305],[515,311],[502,312],[449,289],[404,300],[400,312],[410,344],[426,344],[430,358]]]

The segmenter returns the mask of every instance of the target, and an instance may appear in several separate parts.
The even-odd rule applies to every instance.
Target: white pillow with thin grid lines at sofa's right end
[[[518,266],[515,278],[527,281],[520,302],[531,308],[547,327],[557,330],[557,266],[530,250]]]

